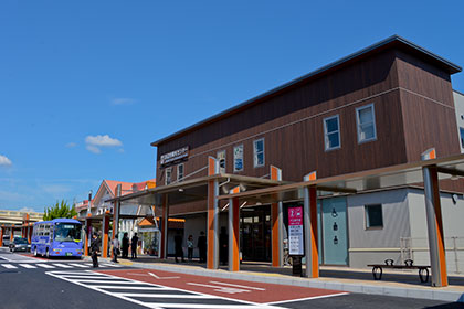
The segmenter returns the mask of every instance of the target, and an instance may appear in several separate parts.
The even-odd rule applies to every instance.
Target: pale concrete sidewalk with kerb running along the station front
[[[99,258],[105,262],[109,259]],[[275,268],[270,266],[241,265],[240,271],[231,273],[225,268],[210,270],[204,264],[179,263],[152,258],[118,259],[120,265],[146,269],[158,269],[198,276],[228,278],[266,284],[291,285],[310,288],[333,289],[349,292],[384,295],[408,298],[432,299],[441,301],[464,302],[464,277],[453,276],[450,286],[434,288],[430,283],[421,284],[416,273],[386,271],[382,280],[373,280],[369,269],[352,269],[341,267],[320,267],[320,277],[308,279],[291,276],[292,268]]]

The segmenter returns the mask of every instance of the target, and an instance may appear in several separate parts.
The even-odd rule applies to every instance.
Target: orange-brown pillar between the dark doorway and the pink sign
[[[282,180],[282,170],[271,166],[271,180]],[[271,249],[272,266],[274,267],[283,265],[282,212],[282,202],[271,204]]]

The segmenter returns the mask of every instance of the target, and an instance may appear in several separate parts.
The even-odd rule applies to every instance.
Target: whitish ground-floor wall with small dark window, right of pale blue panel
[[[387,258],[400,263],[400,238],[411,234],[407,196],[408,190],[399,189],[347,198],[350,267],[365,268]],[[382,204],[383,227],[366,228],[365,205],[368,204]]]

